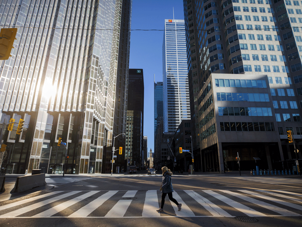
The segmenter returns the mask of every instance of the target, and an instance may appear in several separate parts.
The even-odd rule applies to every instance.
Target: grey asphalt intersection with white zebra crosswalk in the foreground
[[[0,226],[302,226],[297,176],[172,176],[182,210],[167,196],[163,213],[161,176],[48,180],[50,191],[0,202]]]

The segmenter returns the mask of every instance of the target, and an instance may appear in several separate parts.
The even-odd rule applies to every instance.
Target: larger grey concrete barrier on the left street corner
[[[11,192],[25,192],[35,187],[47,185],[45,182],[45,173],[19,176]]]

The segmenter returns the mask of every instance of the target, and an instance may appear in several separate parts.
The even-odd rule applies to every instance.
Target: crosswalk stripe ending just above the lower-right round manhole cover
[[[218,194],[217,192],[213,192],[211,190],[202,190],[204,192],[206,192],[207,194],[215,197],[216,199],[221,200],[222,202],[225,202],[227,205],[234,207],[235,209],[239,210],[240,212],[245,213],[246,215],[250,216],[250,217],[263,217],[263,216],[267,216],[265,214],[262,214],[254,209],[251,209],[239,202],[236,202],[232,199],[229,199],[223,195]]]

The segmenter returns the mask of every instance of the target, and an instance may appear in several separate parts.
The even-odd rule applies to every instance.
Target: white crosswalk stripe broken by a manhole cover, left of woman
[[[134,197],[137,191],[127,191],[122,197]],[[111,210],[105,215],[106,218],[123,217],[130,206],[132,200],[119,200]]]

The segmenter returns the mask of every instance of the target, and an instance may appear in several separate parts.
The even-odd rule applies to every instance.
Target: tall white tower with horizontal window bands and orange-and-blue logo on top
[[[165,20],[162,44],[165,132],[174,133],[183,119],[191,119],[186,55],[185,21]]]

